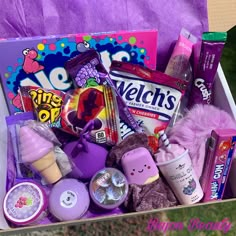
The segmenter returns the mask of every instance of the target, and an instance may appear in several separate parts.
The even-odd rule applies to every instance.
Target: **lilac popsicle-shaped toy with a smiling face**
[[[129,184],[145,185],[159,178],[156,164],[144,147],[126,152],[121,158],[121,165]]]

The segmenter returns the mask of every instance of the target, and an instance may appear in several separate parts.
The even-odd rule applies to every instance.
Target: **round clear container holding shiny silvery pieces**
[[[98,207],[112,210],[125,201],[128,194],[128,182],[121,171],[115,168],[104,168],[91,179],[89,193]]]

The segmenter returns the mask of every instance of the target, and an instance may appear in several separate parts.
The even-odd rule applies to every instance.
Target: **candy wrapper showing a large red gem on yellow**
[[[91,141],[114,145],[119,141],[116,99],[111,87],[78,88],[68,93],[61,118],[63,130],[79,136],[85,125],[94,120]]]

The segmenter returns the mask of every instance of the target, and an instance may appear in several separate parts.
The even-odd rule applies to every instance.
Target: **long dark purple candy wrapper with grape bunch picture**
[[[65,64],[65,68],[76,87],[108,85],[114,89],[119,109],[121,139],[124,139],[128,133],[141,132],[140,127],[129,111],[126,103],[114,87],[109,74],[101,62],[98,52],[88,49],[69,60]]]

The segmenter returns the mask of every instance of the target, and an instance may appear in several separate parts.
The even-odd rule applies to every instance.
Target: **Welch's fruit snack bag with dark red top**
[[[186,89],[186,82],[140,65],[113,61],[110,74],[136,121],[158,149],[159,132],[168,126]]]

